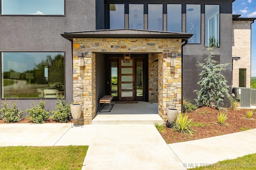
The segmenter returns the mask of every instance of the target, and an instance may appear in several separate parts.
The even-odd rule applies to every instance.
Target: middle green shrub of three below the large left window
[[[49,118],[49,111],[46,111],[44,107],[45,102],[42,100],[40,100],[39,105],[36,106],[34,106],[33,102],[31,109],[26,109],[26,112],[29,113],[26,117],[33,123],[44,123],[44,120]]]

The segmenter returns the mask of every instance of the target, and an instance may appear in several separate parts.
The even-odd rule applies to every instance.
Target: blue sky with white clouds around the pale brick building
[[[233,14],[242,18],[256,18],[256,0],[236,0],[233,2]],[[251,76],[256,77],[256,20],[252,23],[252,62]]]

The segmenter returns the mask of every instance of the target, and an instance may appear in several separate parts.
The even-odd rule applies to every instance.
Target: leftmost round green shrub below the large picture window
[[[3,102],[2,109],[0,110],[0,115],[5,119],[6,123],[20,121],[23,115],[23,111],[16,108],[16,103],[12,104],[12,107],[8,107],[6,102]]]

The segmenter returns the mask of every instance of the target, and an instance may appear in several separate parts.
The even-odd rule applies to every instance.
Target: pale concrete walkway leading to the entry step
[[[167,145],[154,125],[0,124],[0,146],[89,145],[82,170],[182,170],[256,153],[255,141],[256,129]]]

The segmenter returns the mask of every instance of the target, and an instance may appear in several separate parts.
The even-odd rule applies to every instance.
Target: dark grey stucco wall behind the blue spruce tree
[[[204,14],[201,16],[204,18]],[[183,16],[184,18],[184,16]],[[183,20],[184,21],[184,20]],[[204,25],[204,20],[201,21]],[[184,28],[183,28],[184,29]],[[183,96],[194,100],[196,98],[196,93],[193,90],[199,90],[200,86],[196,83],[199,81],[198,74],[201,69],[196,66],[196,64],[202,63],[204,56],[204,26],[201,29],[201,44],[187,44],[183,49]],[[222,14],[220,13],[220,47],[215,48],[218,53],[220,53],[220,61],[223,63],[230,63],[226,67],[226,70],[222,72],[225,78],[228,80],[228,85],[232,85],[232,14]],[[230,88],[231,92],[231,88]],[[226,100],[226,99],[224,99]]]

